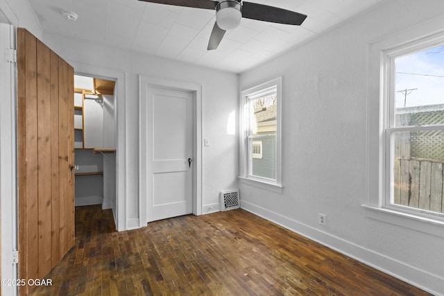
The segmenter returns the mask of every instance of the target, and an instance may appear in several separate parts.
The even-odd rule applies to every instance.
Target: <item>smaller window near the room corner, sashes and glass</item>
[[[241,177],[280,186],[281,79],[241,93]]]

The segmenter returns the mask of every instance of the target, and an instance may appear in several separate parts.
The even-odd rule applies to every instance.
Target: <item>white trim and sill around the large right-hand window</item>
[[[420,26],[409,28],[391,35],[373,44],[369,48],[369,83],[367,101],[367,201],[363,204],[368,218],[386,223],[416,229],[420,232],[443,236],[444,220],[430,215],[427,211],[410,211],[402,206],[386,206],[388,169],[386,168],[386,132],[390,126],[387,110],[391,107],[390,86],[384,85],[391,75],[390,67],[386,67],[389,55],[411,52],[422,49],[426,45],[442,43],[444,39],[444,17],[427,21]],[[393,81],[393,80],[392,80]]]

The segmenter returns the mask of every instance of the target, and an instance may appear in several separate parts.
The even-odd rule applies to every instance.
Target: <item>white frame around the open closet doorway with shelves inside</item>
[[[69,62],[69,61],[68,61]],[[114,121],[116,132],[116,212],[114,213],[117,231],[133,228],[127,220],[126,213],[126,80],[125,72],[89,64],[69,62],[77,75],[116,80],[116,98],[114,105]]]

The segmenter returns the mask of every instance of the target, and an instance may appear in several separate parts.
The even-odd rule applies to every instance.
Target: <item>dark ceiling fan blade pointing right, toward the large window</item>
[[[242,17],[257,19],[258,21],[270,21],[272,23],[300,26],[307,15],[264,4],[242,2]]]

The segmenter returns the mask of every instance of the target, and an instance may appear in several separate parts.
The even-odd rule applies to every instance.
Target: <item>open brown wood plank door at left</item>
[[[18,28],[19,279],[43,279],[74,245],[73,98],[74,69]]]

